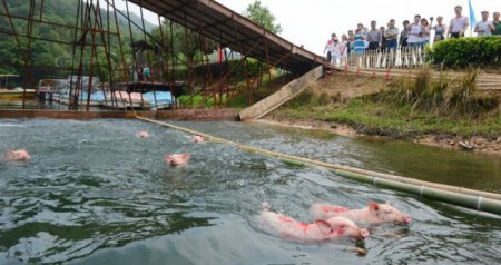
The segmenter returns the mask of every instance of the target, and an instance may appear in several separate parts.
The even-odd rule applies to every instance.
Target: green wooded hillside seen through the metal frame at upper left
[[[26,75],[24,72],[24,60],[23,58],[28,55],[28,38],[22,36],[27,36],[28,32],[28,21],[22,18],[28,18],[30,12],[30,1],[19,1],[19,0],[7,0],[8,10],[0,4],[0,73],[18,73]],[[33,18],[37,20],[41,20],[42,22],[35,22],[32,28],[31,36],[33,39],[31,40],[31,51],[28,55],[30,58],[30,62],[32,65],[32,79],[37,80],[40,78],[63,78],[70,73],[69,70],[58,70],[58,68],[70,68],[71,65],[77,65],[79,61],[72,61],[72,46],[65,45],[75,42],[75,24],[77,22],[77,13],[78,13],[78,0],[51,0],[43,1],[43,12],[40,12],[40,2],[36,1],[36,8],[33,10]],[[106,8],[106,7],[105,7]],[[18,40],[9,35],[12,32],[12,27],[10,24],[9,19],[6,17],[7,12],[9,12],[12,18],[12,23],[14,24],[16,32],[20,36]],[[101,7],[101,18],[104,27],[107,28],[107,13],[106,9]],[[121,11],[124,14],[125,11]],[[124,46],[124,51],[126,53],[127,62],[130,62],[130,30],[128,20],[117,12],[118,14],[118,27],[121,35],[121,42]],[[94,16],[92,16],[94,17]],[[112,11],[109,14],[110,18],[110,31],[116,30],[115,17]],[[141,19],[139,16],[135,13],[130,13],[130,19],[138,26],[141,24]],[[81,17],[80,17],[81,21]],[[55,27],[49,23],[59,23],[65,24],[67,27]],[[147,30],[153,30],[155,28],[154,24],[145,21],[145,28]],[[143,38],[143,32],[136,26],[132,24],[132,35],[134,39],[138,40]],[[81,33],[77,33],[77,39],[80,39]],[[53,40],[55,42],[46,41]],[[18,47],[18,41],[21,43],[21,49]],[[91,35],[87,36],[87,43],[91,43]],[[99,35],[96,36],[96,42],[101,43],[102,40]],[[111,37],[111,60],[116,63],[119,61],[118,56],[118,38]],[[90,60],[90,51],[89,47],[84,49],[84,65],[88,66]],[[107,79],[106,76],[109,73],[106,72],[106,57],[102,48],[97,50],[98,57],[100,58],[99,63],[104,66],[101,69],[101,73],[105,76],[104,79]],[[95,62],[96,63],[96,62]],[[86,70],[86,69],[85,69]]]

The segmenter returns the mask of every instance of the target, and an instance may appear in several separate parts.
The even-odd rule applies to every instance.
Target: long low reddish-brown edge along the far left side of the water
[[[236,109],[175,109],[160,111],[82,111],[82,110],[40,110],[40,109],[0,109],[0,118],[50,118],[50,119],[134,119],[136,116],[173,120],[225,120],[238,118]]]

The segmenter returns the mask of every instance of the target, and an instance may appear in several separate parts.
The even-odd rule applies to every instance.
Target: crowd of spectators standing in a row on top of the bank
[[[420,14],[414,16],[411,23],[409,20],[403,21],[403,29],[395,26],[395,20],[391,19],[386,28],[377,28],[376,21],[371,21],[371,29],[365,28],[362,23],[356,26],[355,30],[348,30],[347,35],[342,35],[341,40],[336,33],[332,33],[327,41],[324,53],[327,52],[327,60],[332,63],[344,61],[350,53],[363,53],[366,50],[386,50],[395,51],[399,47],[405,49],[422,48],[430,43],[432,30],[434,31],[434,42],[446,38],[462,38],[470,27],[470,20],[462,14],[462,7],[454,8],[455,17],[451,19],[449,27],[443,22],[443,17],[436,18],[436,24],[432,26],[433,17],[430,21]],[[482,11],[482,20],[478,21],[472,28],[477,36],[501,36],[500,12],[493,12],[492,20],[489,20],[489,12]]]

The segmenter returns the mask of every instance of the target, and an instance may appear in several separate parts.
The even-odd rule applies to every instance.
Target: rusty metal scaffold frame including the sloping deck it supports
[[[106,3],[106,17],[101,16],[101,0],[78,0],[78,8],[76,13],[76,21],[73,26],[65,24],[61,22],[52,22],[43,19],[43,8],[45,0],[30,0],[30,11],[28,17],[22,17],[18,14],[11,14],[8,9],[6,0],[2,0],[6,11],[0,12],[0,17],[6,17],[9,20],[11,30],[6,31],[0,29],[0,35],[9,35],[16,38],[18,45],[19,55],[22,57],[23,67],[26,71],[24,82],[31,78],[31,69],[36,67],[31,63],[31,41],[51,41],[60,45],[68,45],[72,47],[71,66],[69,68],[58,68],[65,71],[70,71],[70,104],[69,109],[79,108],[79,91],[82,88],[82,76],[84,72],[88,71],[89,84],[86,88],[88,91],[86,110],[89,110],[90,92],[92,78],[96,76],[100,77],[100,80],[105,80],[101,76],[101,67],[106,67],[109,73],[109,91],[111,91],[112,105],[118,107],[118,99],[115,98],[116,90],[122,89],[119,79],[127,81],[130,80],[130,69],[138,69],[138,58],[136,55],[131,55],[132,66],[128,66],[128,60],[125,53],[125,48],[128,38],[130,42],[134,42],[138,35],[132,32],[132,28],[141,32],[143,40],[150,41],[155,46],[160,46],[160,52],[154,50],[155,60],[153,59],[150,51],[148,49],[143,50],[146,52],[146,59],[144,63],[148,65],[150,68],[150,84],[154,85],[156,79],[161,82],[167,82],[169,90],[174,90],[174,80],[177,78],[177,70],[186,68],[186,77],[188,89],[189,89],[189,100],[193,105],[196,91],[194,89],[194,69],[199,67],[202,70],[202,89],[198,91],[202,94],[204,101],[207,104],[210,98],[214,99],[216,106],[225,105],[226,102],[236,95],[236,92],[247,91],[248,101],[254,101],[254,94],[259,87],[263,86],[263,79],[267,75],[272,79],[272,69],[275,67],[281,67],[288,70],[289,72],[301,73],[305,70],[310,70],[314,65],[321,63],[316,55],[308,53],[304,49],[299,49],[296,46],[287,42],[281,37],[266,31],[250,20],[243,18],[240,14],[230,11],[229,9],[220,6],[212,0],[125,0],[126,11],[118,10],[115,0],[102,0]],[[39,13],[36,12],[36,3],[40,3]],[[135,3],[139,6],[140,10],[140,22],[135,22],[130,19],[129,3]],[[158,27],[160,36],[153,36],[153,33],[146,31],[144,9],[155,11],[158,16]],[[105,9],[104,9],[105,10]],[[212,10],[214,12],[207,12]],[[112,12],[112,14],[111,14]],[[118,14],[124,17],[128,23],[129,36],[120,33]],[[168,26],[165,20],[168,20]],[[106,21],[104,21],[106,19]],[[28,27],[26,32],[19,32],[13,23],[13,20],[28,21]],[[115,20],[115,21],[112,21]],[[111,23],[115,23],[116,29],[111,29]],[[48,38],[42,38],[33,36],[33,28],[37,24],[48,24],[50,27],[58,27],[71,30],[72,41],[65,40],[51,40]],[[188,29],[193,32],[198,33],[197,46],[203,52],[196,53],[195,58],[183,59],[180,51],[176,50],[174,47],[174,24],[178,24],[184,28],[184,38],[187,46],[191,45],[188,40]],[[166,40],[164,36],[163,27],[170,28],[170,40]],[[27,38],[28,45],[22,47],[19,38]],[[112,38],[118,40],[119,57],[111,59],[112,52],[111,43]],[[127,39],[126,39],[127,38]],[[207,51],[207,40],[212,39],[219,43],[219,49],[229,48],[232,52],[237,51],[242,55],[242,58],[236,61],[235,65],[229,65],[229,58],[226,57],[225,61],[222,63],[227,63],[228,67],[220,67],[220,70],[215,70],[213,68],[215,62],[212,62]],[[115,46],[114,46],[115,47]],[[169,48],[168,48],[169,47]],[[134,48],[132,48],[134,50]],[[101,53],[104,52],[104,53]],[[102,60],[102,55],[105,60]],[[90,61],[84,60],[88,59],[90,56]],[[141,55],[143,56],[143,55]],[[170,58],[169,58],[170,57]],[[266,67],[259,65],[256,69],[257,72],[250,75],[248,59],[257,59],[266,63]],[[322,58],[322,60],[324,60]],[[155,62],[155,66],[153,65]],[[88,65],[90,63],[90,65]],[[143,66],[141,66],[143,67]],[[236,70],[242,69],[244,76],[239,77],[239,80],[229,80],[230,75],[235,73]],[[206,75],[207,76],[206,76]],[[134,73],[132,73],[134,77]],[[73,80],[76,78],[76,80]],[[167,80],[165,80],[167,79]],[[216,80],[217,79],[217,80]],[[238,89],[237,86],[245,81],[244,88]],[[230,86],[233,82],[234,86]],[[24,85],[24,87],[27,87]],[[157,100],[156,88],[153,87],[154,100]],[[232,88],[230,88],[232,87]],[[238,89],[238,91],[237,91]],[[101,90],[105,91],[105,85],[101,84]],[[121,97],[121,94],[120,94]],[[80,98],[81,104],[82,98]],[[107,100],[107,99],[105,99]],[[129,95],[130,108],[132,109],[132,102]],[[24,102],[23,102],[24,107]],[[134,110],[134,109],[132,109]]]

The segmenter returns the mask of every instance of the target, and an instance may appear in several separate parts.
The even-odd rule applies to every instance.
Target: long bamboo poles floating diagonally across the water
[[[436,184],[430,181],[423,181],[419,179],[405,178],[401,176],[383,174],[377,171],[371,171],[348,166],[335,165],[325,161],[313,160],[308,158],[302,158],[296,156],[289,156],[285,154],[279,154],[276,151],[271,151],[257,147],[252,147],[247,145],[242,145],[235,141],[226,140],[223,138],[214,137],[200,131],[191,130],[180,126],[170,125],[167,122],[153,120],[144,117],[137,117],[139,120],[157,124],[164,127],[169,127],[180,131],[185,131],[193,135],[200,135],[209,140],[217,143],[226,143],[239,147],[243,150],[267,155],[276,157],[286,164],[292,164],[295,166],[320,166],[333,170],[336,175],[346,177],[350,179],[355,179],[363,183],[369,183],[374,186],[385,187],[395,190],[402,190],[419,195],[423,198],[435,199],[439,202],[444,202],[475,210],[488,212],[492,214],[501,215],[501,194],[487,193],[475,189],[462,188],[451,185]]]

